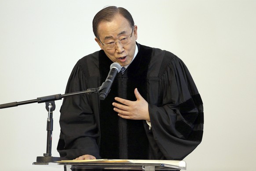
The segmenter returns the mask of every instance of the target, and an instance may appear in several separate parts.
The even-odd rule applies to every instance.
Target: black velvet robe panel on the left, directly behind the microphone
[[[99,52],[99,68],[101,84],[106,80],[113,62],[105,55],[104,51]],[[113,101],[117,97],[117,79],[113,81],[110,93],[105,100],[100,101],[100,155],[102,158],[119,158],[118,139],[118,115],[113,111]]]

